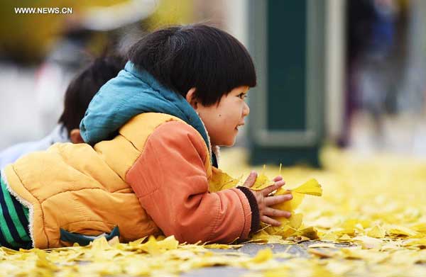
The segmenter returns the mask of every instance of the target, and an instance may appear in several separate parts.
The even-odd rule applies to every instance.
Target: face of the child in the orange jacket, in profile
[[[195,110],[209,132],[212,145],[234,145],[238,129],[244,125],[244,118],[250,113],[245,101],[248,91],[248,86],[239,86],[222,96],[219,105],[197,104]]]

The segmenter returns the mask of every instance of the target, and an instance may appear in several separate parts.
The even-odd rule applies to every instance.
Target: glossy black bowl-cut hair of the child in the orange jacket
[[[173,26],[146,35],[128,58],[182,96],[195,87],[205,106],[239,86],[256,86],[253,61],[236,38],[205,25]]]

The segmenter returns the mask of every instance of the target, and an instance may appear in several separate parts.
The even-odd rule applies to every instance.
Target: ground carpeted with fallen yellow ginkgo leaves
[[[322,185],[321,197],[306,196],[297,208],[302,225],[286,239],[260,232],[249,244],[233,245],[160,237],[48,251],[1,248],[0,276],[173,276],[211,266],[244,268],[246,276],[425,276],[426,161],[333,148],[321,159],[322,169],[280,171],[288,188],[312,178]],[[220,162],[243,180],[251,171],[244,160],[236,149]],[[272,179],[278,172],[266,166],[263,174]],[[244,251],[253,243],[261,250]]]

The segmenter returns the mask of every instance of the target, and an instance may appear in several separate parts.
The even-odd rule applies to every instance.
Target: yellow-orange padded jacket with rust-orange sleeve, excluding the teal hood
[[[113,140],[56,144],[29,154],[2,173],[30,209],[34,247],[67,245],[60,229],[98,235],[119,227],[128,242],[174,234],[180,242],[246,238],[251,208],[243,191],[209,192],[212,168],[201,135],[182,120],[143,113]]]

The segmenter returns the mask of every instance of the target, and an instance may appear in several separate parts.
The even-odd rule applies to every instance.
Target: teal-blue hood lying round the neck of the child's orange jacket
[[[217,166],[207,130],[190,103],[131,62],[126,63],[117,77],[104,84],[90,102],[80,123],[82,138],[89,145],[109,140],[121,126],[140,113],[167,113],[184,120],[200,132],[212,164]]]

